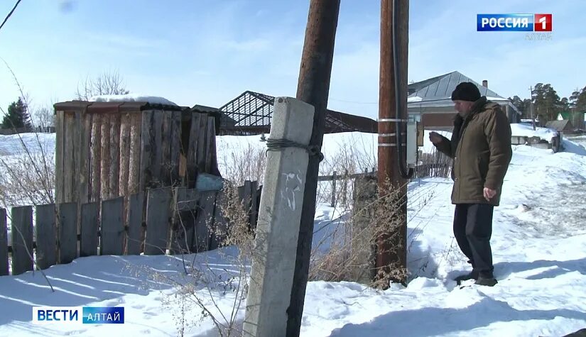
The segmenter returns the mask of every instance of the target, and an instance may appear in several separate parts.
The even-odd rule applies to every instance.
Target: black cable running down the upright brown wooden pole
[[[396,38],[396,30],[397,30],[397,12],[398,12],[398,6],[397,6],[398,0],[393,0],[393,62],[394,62],[394,75],[395,75],[395,118],[397,119],[396,125],[395,125],[395,134],[396,134],[396,140],[397,140],[397,157],[398,157],[398,169],[399,172],[401,173],[401,177],[403,177],[403,179],[411,179],[411,177],[413,177],[413,168],[409,168],[407,170],[407,168],[405,167],[406,165],[406,158],[403,158],[403,144],[401,142],[401,134],[403,133],[403,122],[401,122],[401,104],[403,103],[403,101],[401,100],[402,97],[399,96],[399,86],[398,86],[398,81],[399,81],[399,72],[401,71],[401,68],[398,66],[398,53],[397,53],[397,38]]]

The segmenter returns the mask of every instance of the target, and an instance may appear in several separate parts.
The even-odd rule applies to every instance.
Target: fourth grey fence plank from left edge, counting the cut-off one
[[[77,202],[60,204],[58,209],[59,263],[77,258]]]

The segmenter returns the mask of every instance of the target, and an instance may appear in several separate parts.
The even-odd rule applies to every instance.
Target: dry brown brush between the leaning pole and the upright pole
[[[374,177],[364,179],[355,187],[352,214],[324,225],[335,226],[314,245],[310,280],[368,282],[376,279],[368,283],[381,287],[389,280],[406,278],[406,270],[397,265],[386,270],[374,269],[375,251],[384,249],[384,253],[396,255],[405,248],[397,239],[405,220],[399,210],[405,206],[406,198],[390,182],[381,189],[376,184]]]

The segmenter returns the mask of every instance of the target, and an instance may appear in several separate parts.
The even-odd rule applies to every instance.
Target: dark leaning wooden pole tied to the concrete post
[[[305,101],[315,108],[310,145],[317,145],[319,148],[322,146],[325,111],[330,93],[330,75],[332,74],[338,13],[340,13],[340,0],[310,1],[308,24],[305,28],[305,43],[301,56],[297,99]],[[301,211],[291,304],[287,311],[287,336],[299,336],[301,328],[305,287],[309,275],[319,167],[319,156],[310,156],[305,177],[305,196]]]

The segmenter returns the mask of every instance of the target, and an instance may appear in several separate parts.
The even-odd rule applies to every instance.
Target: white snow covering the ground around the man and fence
[[[326,136],[324,153],[356,137],[376,150],[376,137],[352,133]],[[244,139],[220,138],[218,148]],[[586,149],[581,138],[574,141],[565,140],[566,152],[555,154],[514,146],[494,214],[495,287],[460,289],[451,281],[468,266],[452,239],[452,182],[420,179],[409,189],[408,286],[375,291],[353,282],[310,282],[302,336],[563,336],[586,328]],[[315,228],[335,213],[318,205]],[[234,255],[232,247],[185,260],[222,275],[237,267]],[[0,277],[0,336],[177,336],[181,305],[173,302],[173,282],[185,282],[183,270],[179,256],[99,256],[45,270],[55,292],[40,272]],[[195,292],[229,314],[234,294],[221,285]],[[125,323],[35,325],[31,308],[40,305],[124,306]],[[239,309],[242,323],[244,303]],[[200,319],[201,309],[184,310],[185,336],[217,336],[212,321]]]

